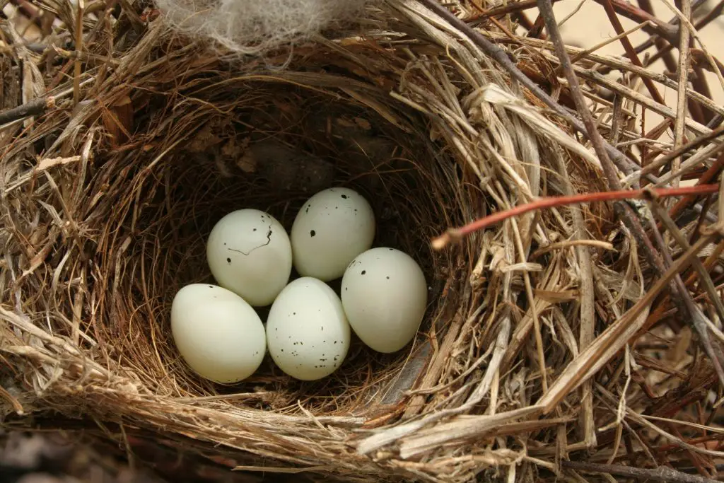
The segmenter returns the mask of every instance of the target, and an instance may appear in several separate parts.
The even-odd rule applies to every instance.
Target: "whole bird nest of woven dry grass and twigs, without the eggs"
[[[121,6],[87,25],[56,12],[66,38],[86,33],[80,52],[37,54],[10,26],[16,56],[3,62],[23,68],[4,82],[16,72],[25,103],[0,114],[8,427],[83,430],[130,458],[165,446],[195,458],[173,471],[203,461],[239,478],[715,468],[721,432],[705,425],[716,423],[720,348],[707,334],[721,334],[723,245],[717,203],[701,199],[722,167],[717,133],[648,99],[688,135],[651,148],[637,133],[642,96],[594,67],[675,81],[497,21],[482,33],[473,25],[493,14],[461,22],[434,1],[376,4],[362,36],[328,32],[263,60],[224,58],[152,10]],[[704,188],[666,191],[692,172]],[[387,355],[353,341],[318,382],[270,361],[237,385],[197,377],[169,310],[183,285],[213,281],[214,222],[251,207],[290,228],[330,186],[363,193],[376,245],[423,267],[430,303],[416,340]],[[677,193],[687,197],[673,207],[660,201]],[[646,201],[568,203],[623,198]],[[502,215],[463,226],[489,214]]]

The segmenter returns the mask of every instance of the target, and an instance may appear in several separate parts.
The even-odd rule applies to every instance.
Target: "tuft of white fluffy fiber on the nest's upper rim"
[[[263,54],[353,20],[369,0],[157,0],[169,24],[238,54]]]

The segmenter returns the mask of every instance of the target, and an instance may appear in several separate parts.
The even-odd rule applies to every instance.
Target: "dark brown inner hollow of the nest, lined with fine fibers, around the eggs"
[[[310,54],[322,59],[329,52],[315,48]],[[308,61],[303,68],[332,65]],[[416,124],[424,127],[418,116],[386,106],[394,125],[335,92],[335,83],[349,82],[343,71],[316,72],[306,83],[285,74],[266,73],[265,80],[233,71],[205,74],[190,77],[190,89],[179,92],[193,99],[186,106],[151,108],[138,127],[152,136],[148,143],[111,151],[117,158],[101,161],[96,180],[114,180],[118,188],[109,196],[114,203],[106,206],[106,217],[98,219],[99,244],[112,260],[108,282],[116,288],[103,298],[103,322],[91,330],[100,340],[114,341],[109,356],[120,366],[137,367],[146,387],[170,397],[245,393],[248,408],[319,416],[362,415],[399,402],[413,382],[400,380],[400,371],[411,353],[429,352],[426,332],[447,278],[441,271],[449,261],[432,253],[429,239],[445,227],[445,200],[457,189],[445,182],[456,180],[454,165],[440,163],[444,156],[416,131]],[[149,105],[159,101],[165,99],[148,99]],[[178,356],[169,314],[181,287],[215,283],[206,264],[211,228],[230,211],[254,208],[290,232],[306,199],[335,186],[358,190],[370,201],[374,245],[405,251],[423,267],[432,303],[419,340],[392,355],[356,340],[342,367],[313,383],[287,377],[269,357],[242,384],[215,385],[198,377]],[[339,293],[340,280],[331,285]],[[268,309],[258,309],[264,320]]]

